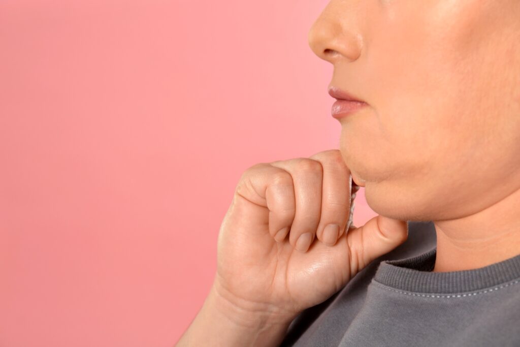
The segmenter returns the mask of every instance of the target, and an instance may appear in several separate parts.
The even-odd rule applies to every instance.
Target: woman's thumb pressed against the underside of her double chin
[[[359,228],[351,226],[346,236],[353,277],[371,261],[405,242],[408,238],[408,222],[378,215]]]

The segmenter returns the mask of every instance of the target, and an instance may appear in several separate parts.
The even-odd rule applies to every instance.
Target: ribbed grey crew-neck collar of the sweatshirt
[[[489,288],[520,278],[520,254],[476,269],[432,272],[437,247],[411,258],[385,260],[374,280],[400,290],[423,293],[460,293]]]

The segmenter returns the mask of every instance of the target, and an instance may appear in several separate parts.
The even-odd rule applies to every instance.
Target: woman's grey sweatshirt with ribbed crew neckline
[[[520,250],[434,273],[435,226],[408,228],[404,243],[298,315],[281,346],[520,346]]]

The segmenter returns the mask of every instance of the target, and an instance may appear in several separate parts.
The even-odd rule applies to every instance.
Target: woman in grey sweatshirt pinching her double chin
[[[339,151],[244,172],[178,346],[520,345],[519,19],[517,0],[332,0],[310,48],[363,102],[332,108]],[[356,186],[380,214],[361,227]]]

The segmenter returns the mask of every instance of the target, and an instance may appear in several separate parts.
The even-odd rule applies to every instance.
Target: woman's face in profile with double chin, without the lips
[[[332,0],[308,39],[368,104],[340,150],[375,212],[458,219],[520,188],[520,1]]]

